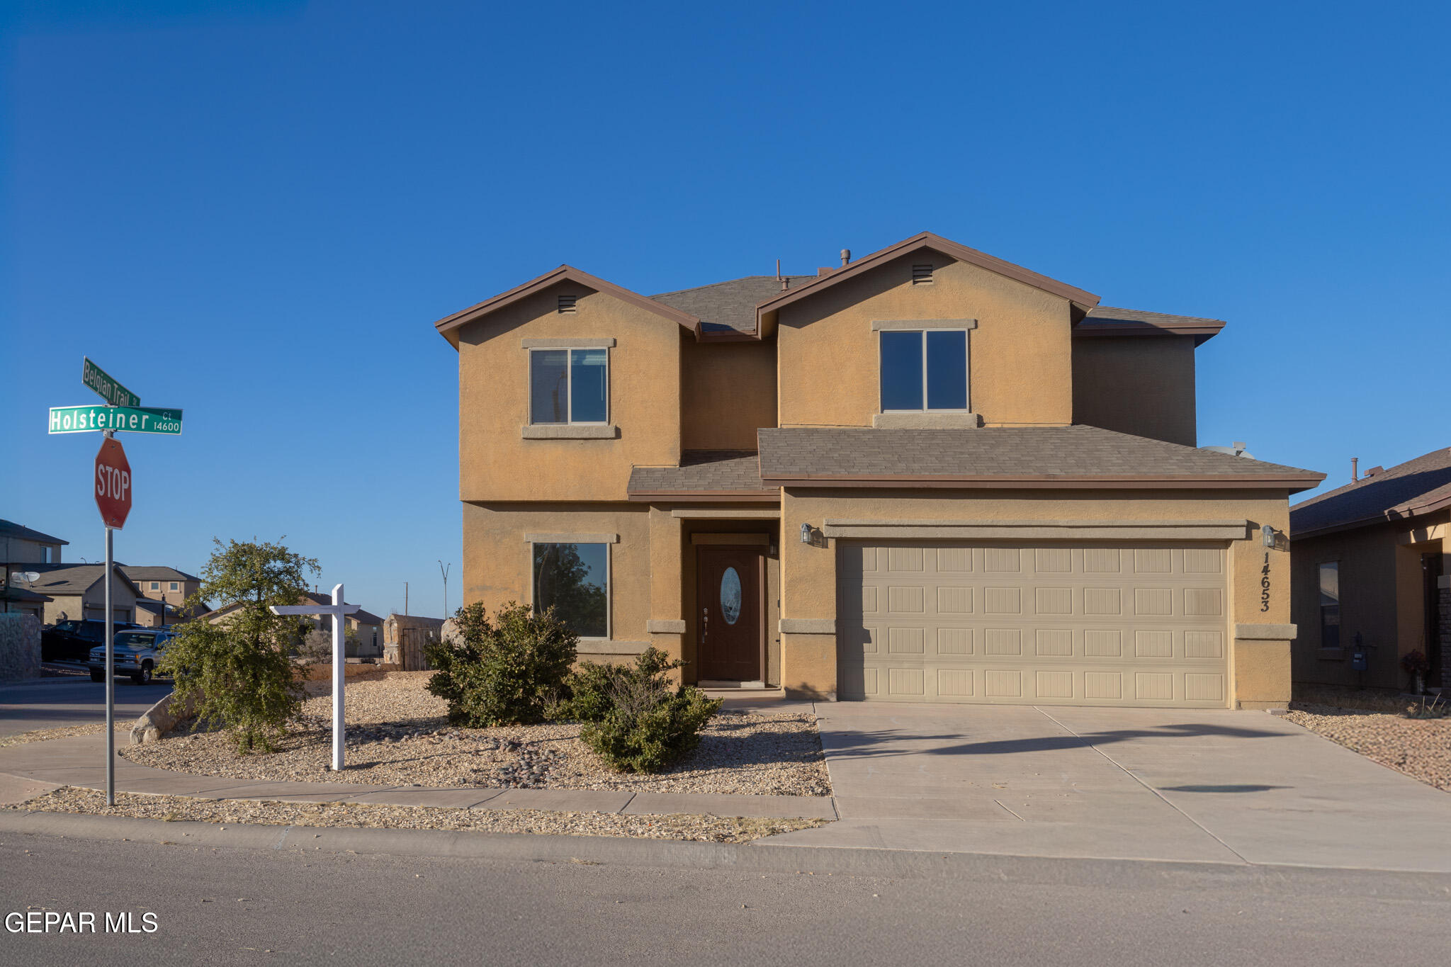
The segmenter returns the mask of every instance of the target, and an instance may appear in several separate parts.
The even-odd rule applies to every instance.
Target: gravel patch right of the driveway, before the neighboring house
[[[1451,792],[1451,718],[1407,719],[1399,712],[1413,700],[1400,696],[1370,696],[1361,702],[1351,694],[1341,700],[1371,709],[1297,700],[1284,718],[1381,765]]]

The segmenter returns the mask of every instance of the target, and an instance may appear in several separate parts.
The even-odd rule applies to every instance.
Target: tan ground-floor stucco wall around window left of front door
[[[489,612],[531,603],[533,558],[525,534],[618,534],[609,545],[609,641],[582,642],[580,658],[633,657],[651,644],[649,505],[463,506],[463,603]]]

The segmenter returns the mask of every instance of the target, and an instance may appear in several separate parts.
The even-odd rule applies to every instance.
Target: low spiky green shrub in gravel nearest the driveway
[[[666,673],[682,664],[647,648],[633,667],[589,665],[570,676],[572,696],[554,710],[583,721],[579,738],[614,768],[657,773],[695,751],[721,707],[694,686],[670,684]]]

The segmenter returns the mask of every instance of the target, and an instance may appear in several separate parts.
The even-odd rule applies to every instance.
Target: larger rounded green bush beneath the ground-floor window
[[[437,668],[428,690],[448,703],[448,722],[464,728],[541,722],[575,663],[575,632],[553,609],[535,615],[515,602],[492,622],[480,603],[454,616],[461,641],[425,648]]]

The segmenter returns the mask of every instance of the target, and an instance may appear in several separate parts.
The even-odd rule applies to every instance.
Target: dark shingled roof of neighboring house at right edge
[[[1344,531],[1451,507],[1451,448],[1441,447],[1290,507],[1290,536]]]

